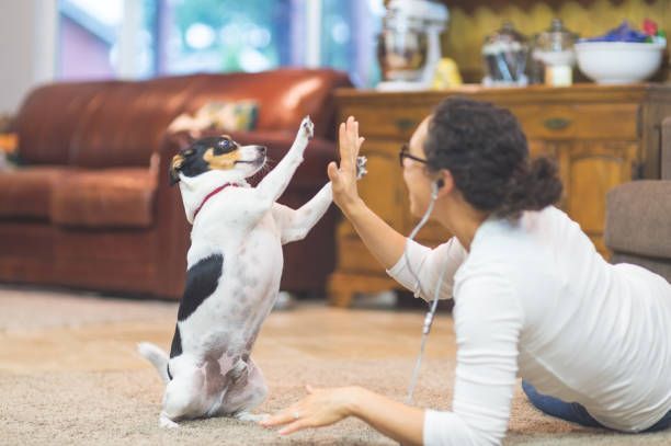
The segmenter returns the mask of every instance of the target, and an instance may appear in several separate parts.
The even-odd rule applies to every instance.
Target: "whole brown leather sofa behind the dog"
[[[171,121],[208,101],[253,99],[257,129],[231,136],[268,146],[278,161],[309,114],[315,139],[280,199],[298,207],[328,181],[331,93],[349,85],[329,69],[282,69],[35,89],[14,121],[25,165],[0,172],[0,282],[179,298],[191,228],[168,182],[182,146],[167,134]],[[285,247],[283,289],[323,291],[336,216],[331,208],[305,240]]]

